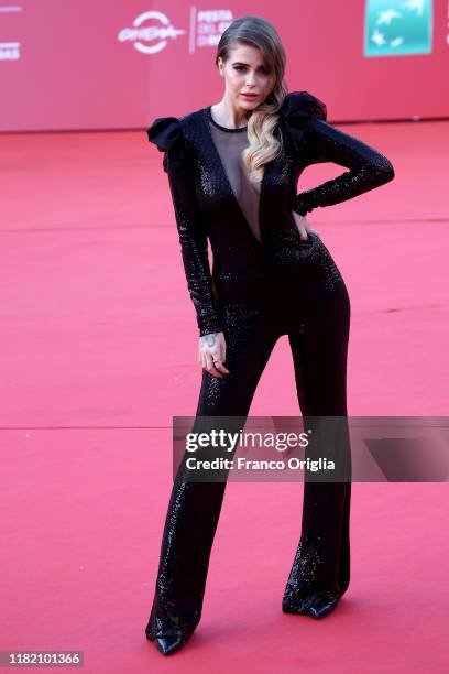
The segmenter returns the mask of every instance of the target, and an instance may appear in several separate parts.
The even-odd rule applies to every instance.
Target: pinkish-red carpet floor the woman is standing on
[[[449,122],[343,130],[396,171],[308,218],[351,297],[349,412],[445,415]],[[145,640],[172,416],[200,381],[162,155],[143,131],[0,144],[0,650],[83,650],[89,674],[446,672],[447,483],[353,485],[351,585],[321,621],[281,611],[303,486],[229,483],[197,631],[167,659]],[[282,337],[251,414],[298,413]]]

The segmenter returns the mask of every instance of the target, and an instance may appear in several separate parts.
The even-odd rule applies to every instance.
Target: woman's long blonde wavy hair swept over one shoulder
[[[276,137],[274,132],[278,111],[288,91],[284,83],[286,55],[273,24],[262,17],[245,14],[232,21],[222,33],[217,46],[216,66],[220,57],[226,63],[231,50],[242,44],[260,50],[265,68],[273,78],[271,93],[250,112],[247,129],[250,144],[242,152],[250,181],[260,192],[264,164],[274,160],[282,150],[282,137]]]

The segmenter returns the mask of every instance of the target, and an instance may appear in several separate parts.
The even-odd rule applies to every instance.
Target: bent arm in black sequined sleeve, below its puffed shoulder
[[[307,146],[313,163],[333,162],[350,168],[338,177],[313,189],[300,192],[293,199],[292,208],[305,216],[318,206],[331,206],[374,189],[394,178],[392,163],[353,135],[311,116],[305,129]]]

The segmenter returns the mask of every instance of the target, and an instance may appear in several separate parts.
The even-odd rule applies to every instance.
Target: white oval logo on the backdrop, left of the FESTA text
[[[132,42],[142,54],[155,54],[164,50],[169,40],[176,40],[186,31],[175,29],[168,17],[157,11],[143,12],[132,22],[132,28],[122,29],[119,42]]]

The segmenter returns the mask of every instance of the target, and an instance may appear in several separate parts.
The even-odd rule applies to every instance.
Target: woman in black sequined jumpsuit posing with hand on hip
[[[197,418],[245,418],[276,340],[288,335],[303,416],[347,416],[348,292],[305,215],[394,177],[390,161],[327,123],[326,105],[286,93],[285,52],[254,15],[221,35],[219,104],[157,118],[149,139],[164,152],[187,285],[199,329]],[[349,168],[296,194],[304,168]],[[213,252],[210,272],[207,242]],[[241,426],[240,426],[241,427]],[[197,627],[226,480],[177,474],[163,534],[147,639],[167,655]],[[304,486],[302,535],[284,612],[322,618],[349,585],[351,482]]]

